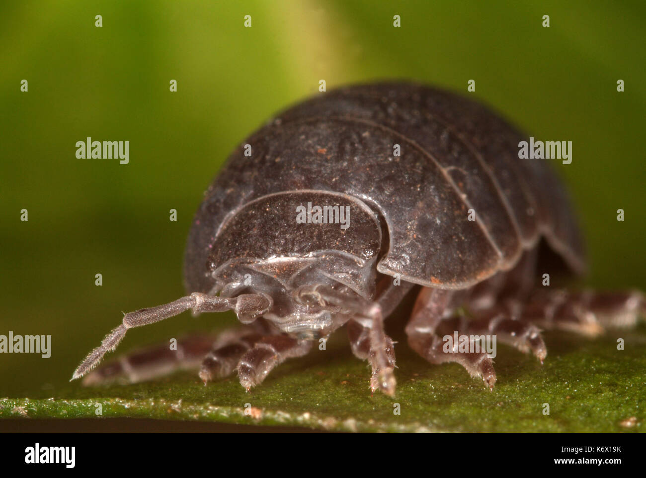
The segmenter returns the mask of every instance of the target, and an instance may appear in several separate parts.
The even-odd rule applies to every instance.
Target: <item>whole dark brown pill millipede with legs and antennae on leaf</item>
[[[584,254],[566,191],[547,162],[519,158],[523,139],[477,103],[410,83],[296,105],[234,151],[209,186],[187,244],[189,296],[125,314],[73,378],[127,329],[187,309],[234,310],[243,325],[216,340],[144,351],[85,380],[136,382],[201,363],[204,382],[237,371],[248,390],[345,325],[353,353],[370,362],[371,389],[392,395],[384,319],[416,285],[408,345],[488,387],[488,336],[542,362],[539,327],[594,336],[633,325],[639,292],[547,287],[545,277],[583,272]]]

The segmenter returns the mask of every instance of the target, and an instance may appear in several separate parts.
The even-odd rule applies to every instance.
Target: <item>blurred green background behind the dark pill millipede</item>
[[[0,334],[51,334],[53,345],[47,360],[0,355],[0,397],[54,395],[122,311],[182,296],[202,191],[245,136],[320,94],[321,79],[331,89],[407,78],[465,94],[474,79],[472,98],[536,138],[572,140],[572,164],[556,167],[587,234],[587,283],[646,288],[645,10],[621,1],[3,2]],[[77,159],[87,136],[129,140],[130,163]],[[233,317],[186,313],[131,331],[120,352],[224,323]]]

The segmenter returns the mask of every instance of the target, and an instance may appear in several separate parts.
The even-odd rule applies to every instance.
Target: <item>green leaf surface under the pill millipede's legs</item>
[[[193,373],[129,386],[73,383],[54,397],[2,398],[0,417],[159,418],[335,431],[642,431],[646,336],[619,336],[624,351],[617,350],[615,334],[593,341],[547,334],[544,365],[499,346],[491,392],[459,365],[426,364],[401,344],[395,397],[371,397],[367,365],[337,338],[326,351],[281,365],[251,393],[234,376],[204,386]],[[395,403],[401,415],[393,413]],[[546,403],[549,415],[543,414]]]

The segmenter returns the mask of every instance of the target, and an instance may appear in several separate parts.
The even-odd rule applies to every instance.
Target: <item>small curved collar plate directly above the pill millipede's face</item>
[[[317,218],[308,205],[330,210]],[[249,241],[249,237],[260,237],[260,241]],[[329,191],[288,191],[247,202],[230,215],[211,248],[209,268],[232,259],[266,261],[326,250],[355,257],[362,265],[376,259],[380,248],[379,218],[363,202]]]

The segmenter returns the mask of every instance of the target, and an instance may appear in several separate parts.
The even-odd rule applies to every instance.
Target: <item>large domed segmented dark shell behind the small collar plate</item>
[[[254,199],[294,190],[368,204],[388,226],[377,270],[413,283],[470,287],[514,266],[541,237],[581,272],[567,193],[547,162],[518,158],[521,140],[478,103],[421,85],[321,93],[256,131],[209,186],[187,243],[187,290],[213,286],[207,257],[225,220]],[[401,157],[393,156],[395,144]],[[468,221],[472,208],[475,221]]]

